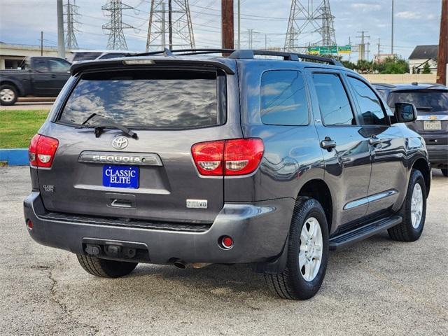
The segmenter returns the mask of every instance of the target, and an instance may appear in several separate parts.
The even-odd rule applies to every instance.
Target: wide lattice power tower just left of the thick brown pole
[[[167,33],[169,49],[196,48],[188,0],[151,0],[146,52],[165,48]]]

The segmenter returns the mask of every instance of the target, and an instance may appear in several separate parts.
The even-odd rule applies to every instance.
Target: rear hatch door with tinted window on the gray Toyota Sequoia
[[[41,133],[59,141],[50,169],[38,169],[45,208],[157,221],[211,223],[223,207],[223,177],[198,174],[201,141],[240,137],[227,94],[236,76],[210,66],[117,66],[77,75],[62,111]],[[235,109],[236,110],[236,109]],[[104,129],[97,113],[137,137]],[[229,115],[229,116],[228,116]],[[238,124],[237,124],[238,125]],[[97,130],[97,132],[95,132]]]

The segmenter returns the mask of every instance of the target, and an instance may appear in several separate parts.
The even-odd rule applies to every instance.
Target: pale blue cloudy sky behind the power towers
[[[66,3],[67,0],[64,0]],[[71,0],[78,6],[76,38],[79,48],[106,49],[108,35],[102,25],[109,22],[102,10],[107,0]],[[304,6],[313,0],[302,0]],[[314,0],[318,3],[321,0]],[[330,0],[335,16],[338,45],[360,43],[360,31],[370,36],[370,59],[378,51],[391,51],[392,0]],[[133,9],[123,10],[124,29],[129,50],[144,51],[148,29],[150,0],[123,0]],[[221,45],[221,0],[190,0],[190,11],[197,48]],[[235,34],[237,31],[235,3]],[[442,0],[395,0],[394,51],[407,58],[415,45],[437,44]],[[316,6],[316,5],[314,5]],[[241,0],[241,48],[248,47],[248,29],[253,29],[253,48],[283,47],[291,0]],[[57,45],[56,0],[0,0],[0,41],[38,45],[43,31],[44,45]],[[308,45],[316,35],[305,29],[297,43]],[[353,53],[351,59],[357,59]]]

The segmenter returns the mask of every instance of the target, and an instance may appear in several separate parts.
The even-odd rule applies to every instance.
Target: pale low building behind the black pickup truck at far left
[[[40,45],[8,44],[0,42],[0,70],[18,69],[20,64],[28,56],[53,56],[57,57],[57,48]]]

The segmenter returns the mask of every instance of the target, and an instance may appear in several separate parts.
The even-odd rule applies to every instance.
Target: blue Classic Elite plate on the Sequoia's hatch
[[[113,188],[139,188],[139,167],[103,166],[103,186]]]

